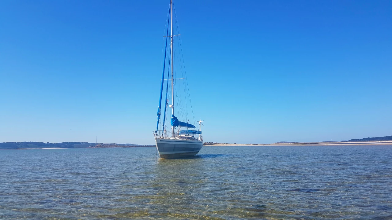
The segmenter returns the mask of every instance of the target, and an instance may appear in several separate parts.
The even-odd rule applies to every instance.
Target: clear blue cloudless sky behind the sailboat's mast
[[[175,5],[204,141],[392,135],[392,1]],[[154,144],[168,7],[0,1],[0,142]]]

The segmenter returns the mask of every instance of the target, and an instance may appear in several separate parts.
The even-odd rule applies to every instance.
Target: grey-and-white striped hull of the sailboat
[[[165,159],[193,156],[203,147],[203,141],[198,140],[156,138],[155,141],[159,156]]]

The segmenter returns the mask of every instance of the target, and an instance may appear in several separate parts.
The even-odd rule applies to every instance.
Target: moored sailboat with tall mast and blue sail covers
[[[183,119],[187,119],[187,111],[184,108],[187,108],[191,103],[185,103],[185,107],[180,105],[180,101],[183,100],[178,96],[181,96],[181,93],[178,92],[176,87],[176,82],[178,80],[186,80],[186,78],[178,78],[175,79],[174,76],[176,74],[176,69],[174,68],[174,38],[179,37],[180,34],[173,35],[173,0],[170,1],[170,9],[169,9],[169,16],[167,19],[167,29],[166,29],[166,36],[165,37],[165,53],[163,59],[163,71],[162,71],[162,79],[161,79],[161,89],[160,89],[160,97],[159,97],[159,105],[158,105],[158,120],[156,123],[156,130],[154,133],[154,138],[156,142],[156,149],[158,150],[159,156],[164,159],[172,159],[178,157],[189,157],[196,155],[199,153],[201,148],[203,147],[203,135],[201,133],[201,120],[199,121],[200,130],[193,124],[189,124],[188,122],[180,121],[175,115],[175,108],[174,108],[174,101],[178,101],[176,103],[176,109],[178,110],[178,114],[181,114]],[[169,26],[170,26],[170,35],[169,35]],[[170,39],[170,48],[167,50],[168,39]],[[182,50],[181,50],[182,51]],[[165,64],[166,64],[166,55],[169,54],[168,58],[168,70],[165,71]],[[180,60],[181,62],[181,60]],[[185,69],[185,68],[184,68]],[[182,69],[181,69],[182,70]],[[167,74],[165,74],[167,72]],[[185,73],[186,74],[186,73]],[[167,79],[165,79],[165,75],[167,75]],[[171,78],[169,78],[171,76]],[[163,119],[160,121],[161,116],[161,107],[162,107],[162,95],[163,95],[163,85],[164,81],[166,80],[166,98],[164,102],[164,109],[163,109]],[[167,105],[169,104],[169,99],[167,98],[169,92],[169,81],[171,82],[171,104],[169,108]],[[180,84],[180,83],[179,83]],[[183,83],[184,88],[187,87],[187,83]],[[189,88],[185,88],[185,92],[189,92]],[[170,92],[169,92],[170,95]],[[189,98],[185,94],[185,99]],[[171,120],[170,125],[171,127],[167,127],[167,123],[165,126],[166,120],[166,112],[170,112],[171,109]],[[185,113],[184,113],[185,112]],[[185,114],[185,115],[184,115]],[[193,110],[192,110],[193,115]],[[194,120],[195,121],[195,120]]]

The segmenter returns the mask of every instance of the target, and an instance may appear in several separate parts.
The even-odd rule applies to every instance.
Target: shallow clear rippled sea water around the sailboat
[[[0,151],[0,219],[392,219],[392,146]]]

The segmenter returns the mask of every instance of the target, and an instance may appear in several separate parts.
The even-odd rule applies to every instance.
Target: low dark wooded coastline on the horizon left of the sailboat
[[[138,144],[111,144],[115,146],[141,146]],[[4,142],[0,143],[0,149],[25,149],[25,148],[88,148],[96,146],[96,143],[89,142]]]

